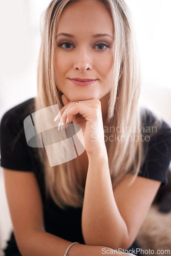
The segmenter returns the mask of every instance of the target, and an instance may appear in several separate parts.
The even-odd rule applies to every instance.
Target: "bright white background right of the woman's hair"
[[[137,36],[143,84],[171,89],[171,1],[125,0]]]

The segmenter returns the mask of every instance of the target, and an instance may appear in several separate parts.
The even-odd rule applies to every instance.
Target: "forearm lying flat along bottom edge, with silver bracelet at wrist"
[[[26,234],[19,250],[23,256],[62,256],[72,242],[61,239],[44,231],[33,231]],[[101,255],[101,246],[74,244],[70,250],[70,256],[95,256]],[[109,248],[108,248],[109,249]]]

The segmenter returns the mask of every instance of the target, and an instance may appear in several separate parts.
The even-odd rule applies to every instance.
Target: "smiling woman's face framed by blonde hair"
[[[70,101],[107,100],[114,63],[114,25],[98,0],[71,2],[56,32],[55,82]]]

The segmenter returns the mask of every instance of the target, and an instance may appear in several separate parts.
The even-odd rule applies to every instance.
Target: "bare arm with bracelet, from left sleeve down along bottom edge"
[[[23,256],[61,256],[72,242],[46,232],[35,175],[4,169],[6,194],[16,243]],[[98,256],[104,246],[75,244],[70,256]]]

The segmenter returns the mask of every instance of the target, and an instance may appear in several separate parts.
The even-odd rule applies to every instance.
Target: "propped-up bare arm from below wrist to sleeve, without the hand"
[[[99,153],[89,157],[82,210],[84,241],[127,249],[134,242],[161,182],[137,177],[128,186],[132,175],[127,175],[113,191],[108,161],[103,156]]]

